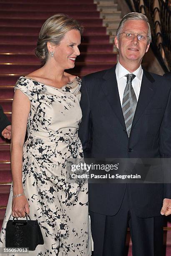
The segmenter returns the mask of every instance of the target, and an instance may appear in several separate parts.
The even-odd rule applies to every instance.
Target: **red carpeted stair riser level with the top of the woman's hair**
[[[5,27],[38,27],[41,28],[45,19],[23,19],[23,18],[0,18],[0,26]],[[83,26],[102,26],[102,19],[79,19],[78,20]]]

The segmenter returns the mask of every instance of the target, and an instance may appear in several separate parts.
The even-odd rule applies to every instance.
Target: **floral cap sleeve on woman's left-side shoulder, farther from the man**
[[[19,77],[15,84],[14,92],[16,89],[18,89],[22,91],[29,98],[29,100],[32,100],[34,96],[34,87],[35,84],[32,80],[25,77]]]

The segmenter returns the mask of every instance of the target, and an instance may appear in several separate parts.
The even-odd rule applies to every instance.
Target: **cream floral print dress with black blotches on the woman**
[[[30,99],[28,138],[23,147],[23,188],[31,220],[38,220],[44,244],[31,256],[90,256],[88,184],[66,180],[66,160],[83,158],[78,138],[82,117],[81,79],[76,77],[61,88],[20,77],[15,90]],[[12,219],[12,187],[0,234],[5,247],[5,228]],[[7,255],[7,254],[4,254]],[[14,255],[14,254],[8,254]],[[25,254],[16,254],[21,256]]]

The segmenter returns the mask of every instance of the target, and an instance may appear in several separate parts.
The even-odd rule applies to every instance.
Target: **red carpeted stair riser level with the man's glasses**
[[[38,36],[10,36],[10,35],[4,35],[0,33],[0,44],[10,44],[13,43],[13,45],[16,44],[27,44],[27,45],[33,45],[36,46],[37,44]],[[84,36],[83,37],[83,43],[89,43],[89,44],[108,44],[109,43],[109,36],[108,35],[91,35],[91,36]]]

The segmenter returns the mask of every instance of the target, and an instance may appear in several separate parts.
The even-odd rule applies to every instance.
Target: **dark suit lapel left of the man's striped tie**
[[[104,81],[101,84],[101,87],[107,97],[109,104],[111,105],[113,112],[118,117],[123,128],[126,129],[125,120],[123,118],[123,112],[121,108],[121,102],[119,98],[115,69],[116,66],[107,70],[107,72],[103,76]]]

